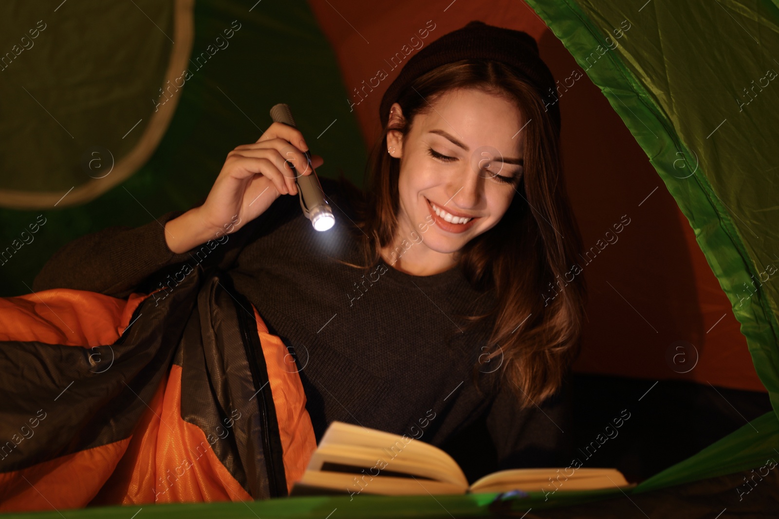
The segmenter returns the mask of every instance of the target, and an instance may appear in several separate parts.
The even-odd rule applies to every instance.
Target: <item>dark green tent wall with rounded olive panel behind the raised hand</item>
[[[37,3],[23,1],[0,5],[0,48],[3,51],[11,51],[14,44],[20,44],[19,38],[28,29],[34,29],[37,20],[48,23],[33,40],[34,46],[22,51],[12,65],[0,72],[0,135],[5,142],[12,142],[11,146],[4,145],[0,153],[0,191],[7,187],[58,193],[48,203],[48,209],[19,209],[0,200],[0,254],[6,253],[0,257],[0,296],[30,293],[32,280],[45,261],[76,237],[108,226],[140,226],[153,216],[175,209],[189,209],[202,201],[227,153],[238,144],[259,139],[272,122],[270,107],[278,102],[295,107],[296,114],[306,114],[305,117],[298,115],[296,122],[301,132],[312,135],[310,139],[315,140],[317,153],[327,157],[326,165],[320,168],[323,176],[337,177],[343,171],[347,178],[361,183],[367,153],[361,145],[356,121],[344,102],[346,93],[337,61],[305,2],[266,2],[263,9],[252,11],[249,11],[251,5],[246,7],[239,2],[189,2],[194,5],[194,39],[189,43],[191,54],[187,53],[185,65],[173,77],[180,77],[185,68],[191,77],[178,91],[167,89],[173,81],[166,83],[164,76],[171,59],[171,47],[185,44],[182,41],[171,44],[165,37],[167,34],[178,39],[174,37],[174,2],[136,0],[137,7],[132,2],[126,5],[120,2],[121,6],[111,9],[104,9],[103,3],[100,0],[65,2],[58,7],[60,2],[48,2],[45,9]],[[160,3],[166,7],[160,7]],[[79,19],[90,19],[92,23],[79,28]],[[226,39],[224,31],[231,30],[234,20],[238,20],[240,28]],[[136,28],[137,37],[125,38],[125,33],[122,33],[122,40],[112,37],[113,26],[123,23]],[[17,30],[18,26],[22,28]],[[55,31],[62,30],[76,31],[83,36],[64,48],[44,47],[44,38],[51,34],[53,40]],[[217,37],[221,37],[220,42],[226,42],[227,46],[217,42]],[[101,53],[101,40],[115,41],[124,45],[127,51],[113,56]],[[219,45],[224,48],[220,49]],[[213,49],[216,49],[213,56],[198,59],[203,53],[207,56],[214,52]],[[70,70],[80,70],[77,64],[88,60],[96,60],[95,68],[101,72],[97,79],[89,74],[79,75],[63,85],[49,67],[50,61],[63,61],[70,64]],[[149,67],[147,77],[138,79],[134,69],[144,64]],[[126,83],[132,81],[137,84],[130,88]],[[317,87],[316,96],[309,96],[303,83],[312,81]],[[178,84],[182,84],[181,80]],[[160,107],[160,111],[166,106],[172,107],[174,102],[178,104],[159,146],[153,149],[146,163],[121,185],[96,195],[89,202],[65,205],[71,192],[55,207],[58,198],[76,181],[102,183],[113,180],[116,171],[97,178],[102,173],[98,174],[88,166],[85,170],[83,156],[85,153],[90,156],[90,151],[99,146],[113,153],[118,163],[131,151],[132,146],[125,142],[141,135],[148,115],[154,113],[153,101],[166,100],[160,94],[163,86],[175,95],[168,95],[171,101]],[[59,96],[62,103],[57,108],[41,107],[22,87],[44,105],[48,103],[38,93],[62,91]],[[104,115],[116,100],[122,100],[122,108],[115,116],[127,121],[121,132],[116,128],[113,116]],[[93,104],[97,106],[92,107]],[[321,110],[320,107],[329,109]],[[51,112],[51,117],[46,110]],[[122,135],[142,117],[144,121],[122,139]],[[50,158],[36,163],[36,170],[43,171],[51,181],[15,173],[20,168],[25,169],[22,165],[29,160],[25,157],[30,154],[48,156],[49,147],[40,140],[47,139],[39,138],[38,134],[26,139],[21,150],[17,148],[21,146],[19,142],[9,141],[19,121],[30,119],[36,121],[34,128],[45,128],[50,132],[46,135],[57,135],[58,138],[64,135],[64,142],[58,149],[72,147],[62,156],[52,153]],[[69,128],[73,139],[55,119]],[[337,119],[337,123],[330,130],[337,131],[325,132],[317,139],[333,119]],[[85,129],[77,132],[74,128]],[[37,227],[36,233],[30,234],[29,226],[36,222],[44,224]],[[8,247],[10,251],[6,251]]]

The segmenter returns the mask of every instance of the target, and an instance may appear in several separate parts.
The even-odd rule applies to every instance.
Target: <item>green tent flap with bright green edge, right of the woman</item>
[[[770,150],[779,142],[769,129],[775,98],[770,93],[756,96],[760,86],[755,97],[743,89],[769,77],[767,71],[779,65],[770,65],[770,56],[779,49],[779,12],[766,2],[754,8],[737,2],[704,6],[654,0],[633,8],[594,5],[597,2],[529,3],[601,88],[689,219],[742,323],[755,369],[774,407],[772,416],[761,419],[767,436],[752,438],[757,451],[739,450],[751,430],[745,426],[716,448],[669,468],[635,491],[702,479],[722,473],[724,467],[731,472],[754,467],[756,458],[776,455],[774,447],[779,446],[779,289],[764,282],[760,297],[750,297],[744,306],[738,303],[745,283],[767,275],[764,266],[777,244],[777,190],[769,186],[775,176]],[[613,40],[612,31],[624,19],[652,30],[631,34],[598,59],[610,45],[606,38]],[[698,31],[700,39],[690,38],[684,27],[693,23],[731,30]]]

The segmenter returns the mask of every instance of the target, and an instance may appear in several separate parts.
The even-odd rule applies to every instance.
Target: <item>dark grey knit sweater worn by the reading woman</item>
[[[303,216],[297,196],[282,196],[224,243],[174,254],[163,226],[182,211],[168,212],[138,228],[110,227],[72,241],[44,265],[33,289],[125,297],[174,286],[182,262],[218,261],[291,349],[317,441],[340,420],[444,446],[485,419],[483,440],[492,440],[499,468],[565,466],[568,399],[561,393],[520,411],[499,383],[499,359],[478,363],[488,324],[464,331],[456,317],[485,312],[493,292],[471,288],[460,268],[416,276],[379,262],[365,275],[336,261],[360,261],[347,230],[353,215],[337,182],[320,181],[337,222],[324,233]]]

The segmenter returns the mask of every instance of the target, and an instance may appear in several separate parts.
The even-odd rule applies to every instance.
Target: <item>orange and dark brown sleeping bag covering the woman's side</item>
[[[294,357],[229,275],[152,295],[0,298],[0,511],[261,500],[302,475]]]

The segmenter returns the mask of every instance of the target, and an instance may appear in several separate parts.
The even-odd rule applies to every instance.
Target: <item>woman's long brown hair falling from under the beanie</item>
[[[529,123],[523,129],[524,174],[515,186],[519,196],[499,223],[458,251],[458,266],[471,286],[495,289],[497,302],[488,314],[460,317],[469,324],[492,324],[488,358],[502,355],[502,381],[507,379],[518,390],[517,398],[527,407],[562,384],[579,352],[587,298],[581,275],[566,279],[576,265],[581,237],[562,179],[559,128],[527,80],[497,61],[463,60],[421,75],[400,94],[397,103],[404,121],[382,129],[366,167],[369,191],[363,193],[343,176],[340,179],[351,198],[355,237],[365,258],[365,265],[353,266],[376,265],[379,250],[395,237],[400,161],[386,153],[387,133],[397,130],[405,141],[417,114],[430,110],[443,93],[462,88],[506,97]],[[555,296],[544,296],[550,287]]]

